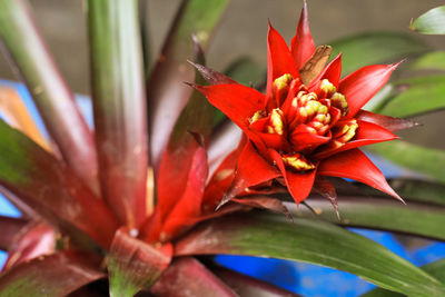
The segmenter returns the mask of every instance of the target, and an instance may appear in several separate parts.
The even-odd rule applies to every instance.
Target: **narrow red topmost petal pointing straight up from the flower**
[[[315,44],[309,30],[306,1],[299,16],[297,31],[290,41],[290,51],[297,69],[300,69],[315,52]]]

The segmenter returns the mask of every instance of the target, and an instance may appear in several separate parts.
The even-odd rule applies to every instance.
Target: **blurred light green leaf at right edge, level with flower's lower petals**
[[[369,147],[389,161],[429,176],[445,184],[445,151],[421,147],[403,140]]]

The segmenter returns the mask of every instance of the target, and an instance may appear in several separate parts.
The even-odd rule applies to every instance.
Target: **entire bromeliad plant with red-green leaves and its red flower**
[[[370,66],[340,79],[340,56],[325,68],[330,48],[315,50],[305,7],[290,51],[269,29],[264,96],[202,66],[199,43],[207,43],[226,6],[225,0],[184,1],[145,82],[148,60],[142,59],[146,42],[137,1],[87,1],[90,131],[28,4],[0,2],[0,36],[51,139],[23,125],[30,121],[16,112],[20,103],[3,106],[21,131],[0,122],[0,185],[23,217],[0,218],[0,247],[9,253],[0,295],[102,296],[108,284],[111,296],[140,290],[156,296],[291,296],[198,257],[216,254],[308,261],[397,293],[445,294],[439,280],[369,239],[314,217],[291,222],[270,211],[304,216],[274,194],[289,192],[300,202],[313,188],[336,205],[324,176],[354,178],[398,198],[356,149],[392,140],[389,130],[411,126],[360,110],[395,66]],[[195,42],[194,32],[200,38]],[[190,58],[214,86],[202,86],[199,76],[194,80]],[[245,137],[239,141],[230,123],[212,129],[212,107],[182,81],[195,81]],[[445,239],[442,229],[415,225],[425,216],[443,222],[437,212],[414,204],[399,212],[411,225],[394,226],[394,210],[402,211],[402,204],[384,201],[382,226],[366,219],[362,226]],[[325,206],[323,200],[314,204]],[[346,215],[369,214],[368,206],[353,202],[356,210],[346,207]]]

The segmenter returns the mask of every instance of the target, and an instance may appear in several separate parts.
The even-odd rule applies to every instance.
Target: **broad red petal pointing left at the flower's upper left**
[[[243,130],[248,131],[248,119],[264,110],[266,98],[259,91],[243,85],[194,86],[209,102],[226,113]]]

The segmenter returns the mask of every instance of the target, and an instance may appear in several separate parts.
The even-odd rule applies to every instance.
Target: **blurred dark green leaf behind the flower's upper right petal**
[[[398,62],[427,51],[425,42],[400,32],[367,32],[328,42],[330,57],[343,52],[342,73],[345,76],[367,65]]]

